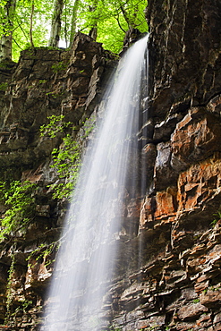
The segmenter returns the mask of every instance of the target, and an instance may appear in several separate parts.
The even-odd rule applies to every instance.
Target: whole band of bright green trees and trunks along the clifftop
[[[125,32],[148,30],[147,0],[0,0],[0,60],[17,61],[27,47],[70,47],[89,34],[118,53]]]

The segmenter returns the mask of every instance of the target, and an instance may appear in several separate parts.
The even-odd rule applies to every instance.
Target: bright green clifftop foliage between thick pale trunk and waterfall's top
[[[93,27],[98,29],[97,41],[103,43],[105,49],[119,53],[123,47],[125,32],[136,28],[146,32],[148,25],[144,10],[145,0],[88,0],[78,1],[75,15],[76,29],[88,34]],[[72,12],[72,4],[66,4],[66,11]],[[93,10],[91,10],[93,8]],[[65,16],[65,33],[70,33],[72,26],[71,16]],[[62,35],[64,38],[64,35]]]

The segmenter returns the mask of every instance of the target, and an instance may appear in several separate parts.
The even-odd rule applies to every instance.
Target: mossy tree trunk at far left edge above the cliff
[[[0,39],[0,61],[12,60],[13,44],[13,16],[15,13],[16,0],[8,0],[4,6],[4,34]]]

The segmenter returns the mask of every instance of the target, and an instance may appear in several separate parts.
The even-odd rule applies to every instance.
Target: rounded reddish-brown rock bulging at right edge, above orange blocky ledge
[[[221,123],[203,107],[191,108],[171,136],[171,165],[186,168],[220,151]]]

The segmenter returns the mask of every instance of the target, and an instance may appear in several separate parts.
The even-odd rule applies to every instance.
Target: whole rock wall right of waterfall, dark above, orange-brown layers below
[[[221,327],[220,13],[216,1],[149,1],[152,135],[143,150],[153,168],[142,250],[132,246],[141,267],[118,283],[123,330]]]

